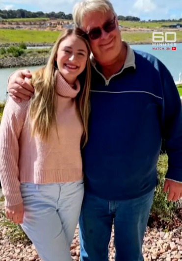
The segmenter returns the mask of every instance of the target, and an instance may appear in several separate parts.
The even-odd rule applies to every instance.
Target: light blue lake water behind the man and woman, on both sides
[[[131,45],[133,49],[149,52],[165,64],[174,77],[179,80],[179,73],[182,72],[182,44],[177,44],[176,50],[153,50],[152,45]],[[30,71],[39,67],[28,67]],[[0,69],[0,100],[6,98],[7,78],[17,68]]]

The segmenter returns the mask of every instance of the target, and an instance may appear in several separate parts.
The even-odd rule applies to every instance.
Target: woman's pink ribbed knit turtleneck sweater
[[[0,123],[0,181],[5,206],[21,203],[20,183],[61,183],[82,178],[80,140],[82,125],[76,111],[75,97],[79,82],[72,88],[60,75],[56,77],[58,95],[57,128],[52,128],[50,142],[38,136],[30,139],[29,101],[6,102]]]

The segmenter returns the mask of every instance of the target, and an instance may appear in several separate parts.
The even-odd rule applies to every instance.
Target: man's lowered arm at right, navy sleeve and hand
[[[171,73],[160,64],[163,88],[163,138],[168,155],[164,191],[168,200],[182,197],[182,102]]]

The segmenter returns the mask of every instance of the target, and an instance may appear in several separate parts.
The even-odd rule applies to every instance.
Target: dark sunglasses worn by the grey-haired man
[[[87,35],[89,36],[90,40],[96,40],[101,37],[102,35],[102,29],[106,33],[110,33],[115,30],[116,28],[116,23],[115,23],[116,18],[114,17],[113,20],[106,22],[102,28],[96,27],[91,29],[89,32],[87,32]]]

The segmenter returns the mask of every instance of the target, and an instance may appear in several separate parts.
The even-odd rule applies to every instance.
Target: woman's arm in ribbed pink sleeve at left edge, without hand
[[[0,183],[5,206],[20,204],[23,200],[19,182],[19,137],[26,119],[28,101],[16,103],[9,98],[0,122]]]

